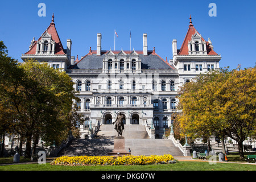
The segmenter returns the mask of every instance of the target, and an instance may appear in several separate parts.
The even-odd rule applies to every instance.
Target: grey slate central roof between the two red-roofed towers
[[[90,51],[87,55],[82,57],[75,65],[71,65],[69,69],[102,69],[102,63],[105,59],[106,53],[109,51],[101,51],[101,56],[96,55],[97,51]],[[118,54],[121,51],[112,51]],[[133,51],[123,51],[130,54]],[[141,60],[141,69],[175,69],[168,61],[163,60],[155,53],[155,50],[148,51],[148,56],[143,55],[143,51],[135,51]]]

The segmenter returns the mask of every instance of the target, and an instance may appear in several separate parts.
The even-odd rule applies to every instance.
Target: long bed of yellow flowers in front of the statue
[[[125,155],[117,158],[113,156],[61,156],[52,161],[52,165],[64,166],[86,166],[86,165],[147,165],[168,163],[173,161],[174,157],[170,154],[134,156]]]

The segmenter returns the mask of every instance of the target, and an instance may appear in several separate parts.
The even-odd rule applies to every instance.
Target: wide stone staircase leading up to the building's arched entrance
[[[114,148],[117,131],[114,125],[101,125],[93,139],[76,139],[59,152],[59,156],[108,155]],[[125,125],[122,137],[125,137],[125,150],[131,149],[131,155],[183,156],[183,152],[170,139],[150,139],[144,125]]]

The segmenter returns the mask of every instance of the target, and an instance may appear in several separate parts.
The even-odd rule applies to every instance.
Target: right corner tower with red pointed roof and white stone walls
[[[181,45],[177,49],[177,40],[172,41],[173,64],[178,70],[180,84],[191,81],[192,78],[210,70],[220,69],[221,55],[213,50],[210,39],[205,41],[192,24],[190,16],[188,31]]]

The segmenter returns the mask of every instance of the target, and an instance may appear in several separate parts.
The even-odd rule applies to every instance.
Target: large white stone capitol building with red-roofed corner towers
[[[88,48],[79,60],[72,56],[72,41],[64,49],[57,34],[54,16],[38,40],[31,41],[23,61],[36,59],[53,68],[61,68],[72,77],[79,91],[74,103],[84,114],[80,125],[81,137],[91,126],[112,125],[122,114],[125,125],[154,125],[151,138],[162,138],[164,128],[171,126],[171,114],[176,112],[177,90],[200,73],[219,69],[221,55],[213,50],[210,39],[205,40],[193,26],[191,18],[187,35],[177,49],[172,40],[172,59],[160,57],[155,48],[147,46],[143,34],[141,50],[102,50],[102,35],[97,34],[97,49]],[[153,126],[152,125],[152,126]]]

